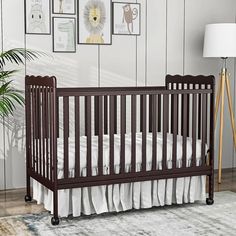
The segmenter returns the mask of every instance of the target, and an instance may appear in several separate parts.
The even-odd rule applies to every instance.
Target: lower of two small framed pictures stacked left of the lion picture
[[[76,20],[53,17],[53,52],[76,52]]]

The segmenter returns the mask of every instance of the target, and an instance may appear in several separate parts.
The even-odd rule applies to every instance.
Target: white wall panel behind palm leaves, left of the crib
[[[11,12],[11,14],[8,14]],[[2,1],[3,50],[24,47],[24,1]],[[12,17],[14,16],[14,17]],[[24,66],[8,65],[18,69],[14,76],[17,89],[24,90]],[[6,188],[25,186],[25,118],[24,107],[17,106],[14,116],[5,119],[5,182]]]

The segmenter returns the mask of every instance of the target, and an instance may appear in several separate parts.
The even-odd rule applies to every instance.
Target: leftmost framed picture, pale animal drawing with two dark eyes
[[[50,0],[25,0],[25,33],[51,34]]]

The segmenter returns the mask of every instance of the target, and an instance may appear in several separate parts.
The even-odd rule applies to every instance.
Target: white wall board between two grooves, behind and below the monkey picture
[[[112,45],[101,46],[100,52],[101,86],[136,85],[136,36],[113,35]]]

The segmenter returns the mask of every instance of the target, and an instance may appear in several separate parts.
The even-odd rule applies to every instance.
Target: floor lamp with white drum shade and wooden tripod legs
[[[203,57],[217,57],[222,59],[220,82],[216,94],[215,126],[220,105],[220,130],[219,130],[219,153],[218,153],[218,183],[221,183],[222,173],[222,149],[223,149],[223,126],[224,126],[224,97],[225,89],[228,97],[228,106],[233,132],[234,147],[236,147],[236,127],[232,107],[232,97],[227,70],[227,59],[236,57],[236,24],[221,23],[209,24],[205,28]]]

